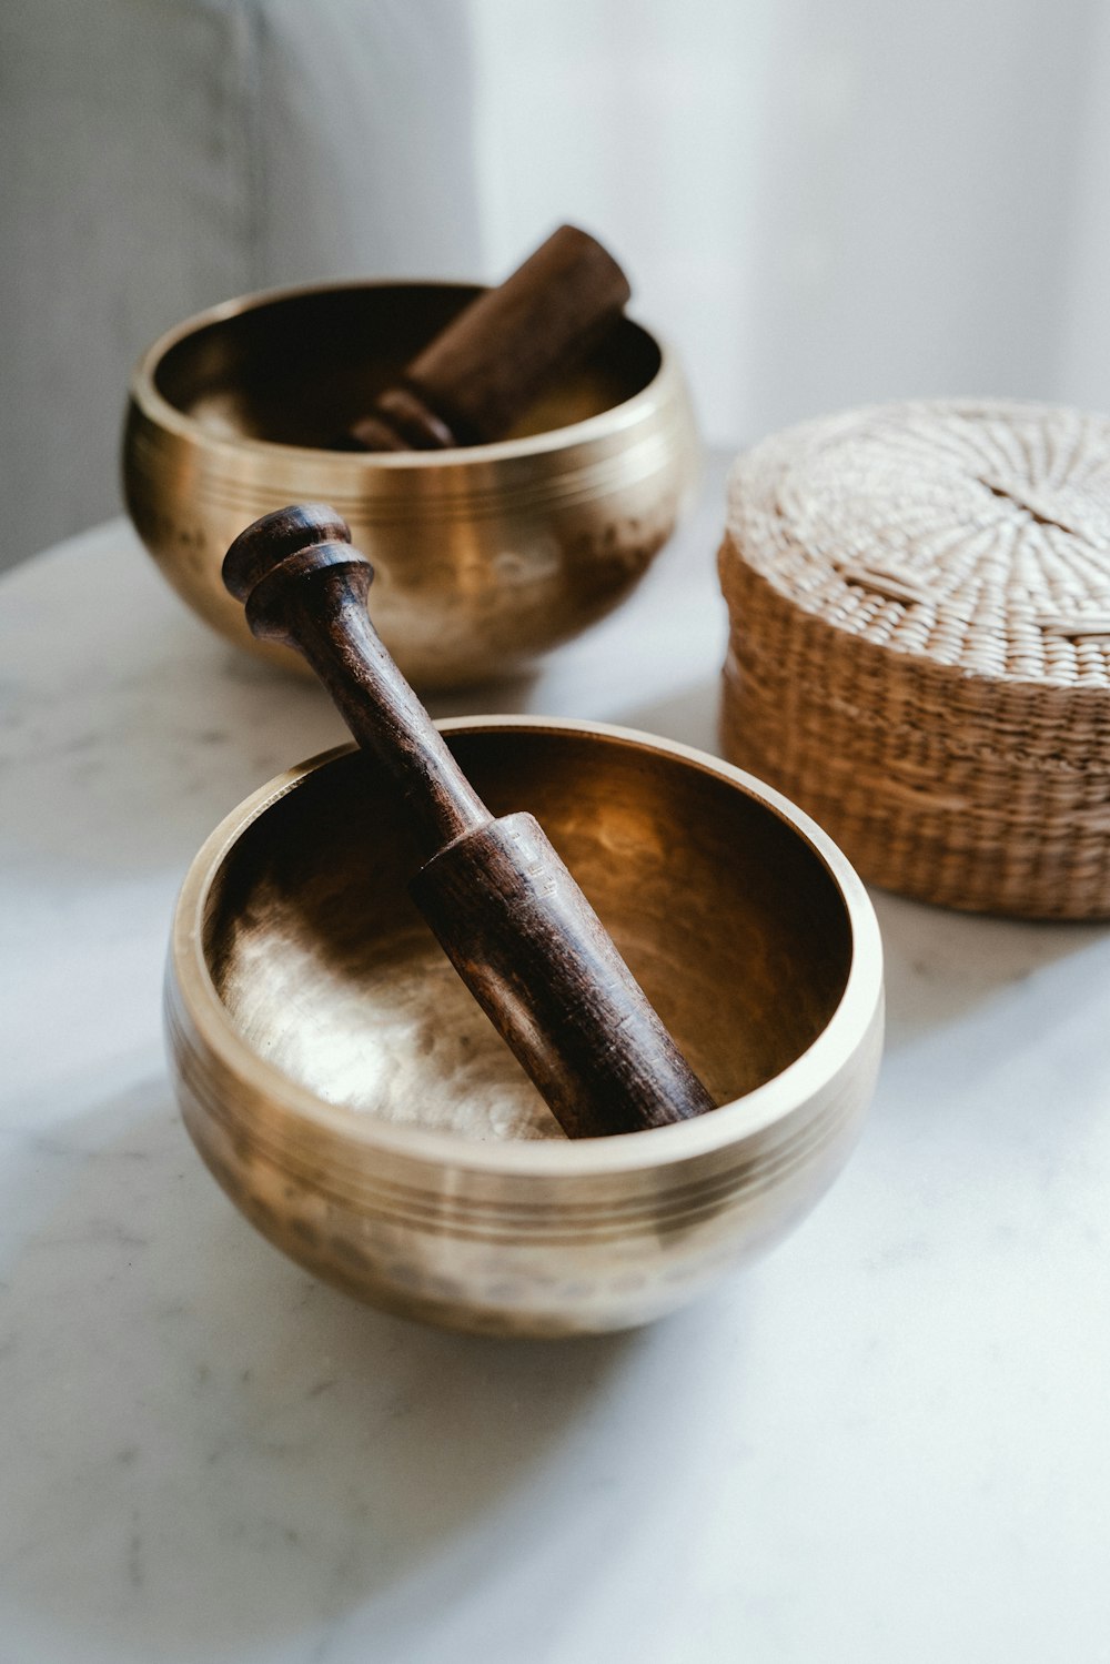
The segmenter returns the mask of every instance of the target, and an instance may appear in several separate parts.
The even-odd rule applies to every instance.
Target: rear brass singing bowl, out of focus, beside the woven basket
[[[697,439],[674,354],[621,319],[498,444],[325,449],[474,295],[356,283],[228,301],[165,334],[131,379],[123,489],[165,577],[256,642],[223,589],[233,537],[286,503],[333,504],[376,567],[374,624],[424,689],[528,664],[609,612],[674,529]]]

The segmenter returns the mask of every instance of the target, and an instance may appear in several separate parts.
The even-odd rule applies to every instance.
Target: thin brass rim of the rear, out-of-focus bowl
[[[128,398],[146,418],[146,421],[176,434],[181,439],[188,439],[196,446],[203,446],[208,451],[225,453],[228,456],[243,456],[243,453],[271,458],[283,456],[286,461],[295,458],[301,461],[306,458],[323,458],[338,466],[349,464],[354,471],[404,474],[443,469],[444,464],[453,468],[474,468],[511,458],[546,456],[551,451],[571,449],[572,446],[586,444],[591,439],[609,438],[641,421],[654,408],[661,391],[672,386],[681,378],[677,358],[669,341],[656,329],[649,329],[637,318],[626,313],[626,321],[646,334],[659,351],[659,368],[651,381],[639,388],[637,393],[632,393],[631,398],[622,399],[619,404],[609,406],[609,409],[597,411],[594,416],[567,423],[566,428],[551,428],[546,433],[528,434],[523,439],[496,439],[491,444],[449,446],[443,451],[331,451],[313,444],[283,444],[276,439],[258,439],[251,434],[228,436],[210,433],[195,416],[178,409],[176,404],[171,404],[170,399],[166,399],[158,389],[158,368],[166,353],[170,353],[181,341],[188,339],[190,334],[196,334],[215,323],[225,323],[228,318],[238,318],[248,311],[261,311],[265,306],[273,306],[288,300],[300,300],[308,295],[389,288],[466,288],[481,291],[488,288],[488,285],[468,281],[464,278],[336,278],[325,283],[288,283],[278,288],[255,290],[248,295],[236,295],[231,300],[220,301],[216,306],[206,306],[203,311],[193,313],[190,318],[183,318],[180,323],[173,324],[173,328],[163,331],[163,334],[160,334],[158,339],[140,354],[128,381]]]

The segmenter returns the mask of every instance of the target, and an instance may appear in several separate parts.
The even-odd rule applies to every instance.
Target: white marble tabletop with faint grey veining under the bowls
[[[719,501],[453,709],[711,745]],[[1110,932],[877,897],[880,1090],[795,1235],[642,1333],[441,1335],[255,1236],[163,1063],[191,854],[338,717],[118,522],[0,584],[0,677],[3,1664],[1110,1657]]]

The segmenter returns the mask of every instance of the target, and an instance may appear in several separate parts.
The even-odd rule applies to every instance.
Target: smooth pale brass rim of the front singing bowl
[[[865,1043],[884,998],[882,937],[864,882],[847,855],[815,820],[774,787],[709,752],[639,729],[576,717],[529,714],[448,717],[436,724],[444,734],[521,732],[584,734],[621,745],[677,759],[717,775],[754,797],[787,822],[829,872],[845,910],[850,932],[849,975],[837,1007],[815,1040],[780,1073],[711,1113],[671,1127],[644,1128],[621,1137],[483,1142],[463,1133],[433,1132],[409,1123],[378,1120],[373,1112],[351,1110],[316,1097],[281,1073],[241,1038],[223,1005],[203,953],[205,905],[211,882],[238,839],[268,809],[310,774],[349,755],[353,742],[333,745],[275,775],[243,799],[210,834],[188,867],[173,914],[170,958],[176,988],[200,1038],[223,1067],[260,1095],[280,1105],[291,1122],[330,1133],[366,1150],[408,1160],[466,1168],[481,1173],[514,1173],[521,1178],[584,1178],[614,1171],[651,1170],[704,1156],[784,1122],[829,1087]]]

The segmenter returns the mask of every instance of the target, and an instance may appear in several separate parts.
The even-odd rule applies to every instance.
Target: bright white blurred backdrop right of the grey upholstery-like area
[[[473,0],[491,271],[611,243],[711,438],[867,399],[1110,401],[1097,0]]]

